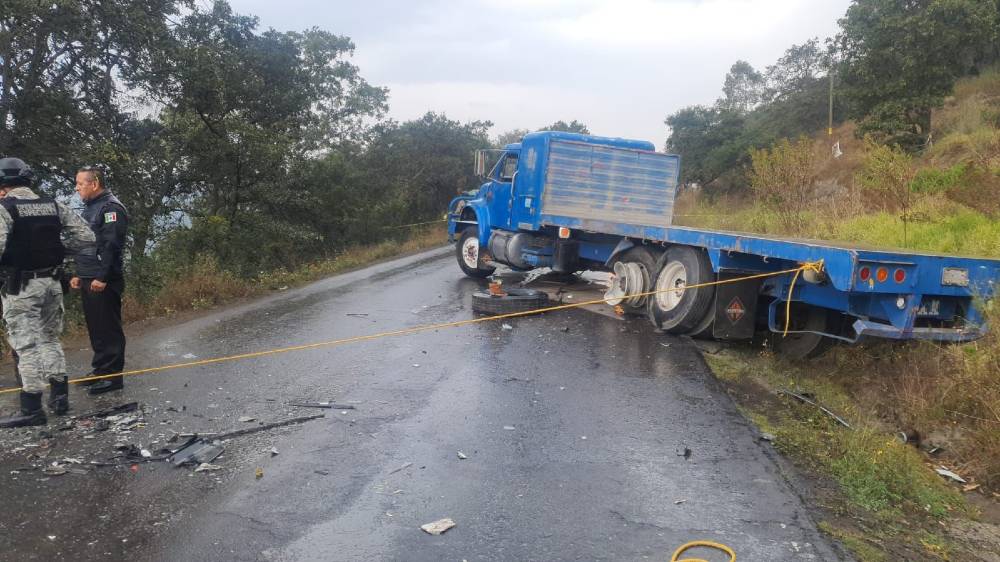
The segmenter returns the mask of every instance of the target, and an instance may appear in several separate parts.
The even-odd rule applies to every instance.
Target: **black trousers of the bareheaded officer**
[[[100,293],[90,290],[92,279],[80,280],[83,316],[94,350],[95,375],[119,373],[125,368],[125,331],[122,330],[122,293],[125,280],[108,281]]]

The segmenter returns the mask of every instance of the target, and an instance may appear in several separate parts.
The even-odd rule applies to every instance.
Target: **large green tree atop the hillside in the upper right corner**
[[[859,134],[921,146],[931,109],[996,54],[998,9],[982,0],[855,0],[840,20],[838,75]]]

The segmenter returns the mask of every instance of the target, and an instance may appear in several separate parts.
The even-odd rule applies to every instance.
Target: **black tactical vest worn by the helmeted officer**
[[[0,265],[19,270],[56,267],[63,262],[62,221],[51,197],[4,197],[0,206],[14,219]]]

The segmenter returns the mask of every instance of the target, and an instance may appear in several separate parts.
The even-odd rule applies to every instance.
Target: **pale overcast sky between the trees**
[[[262,29],[350,37],[389,113],[490,120],[493,134],[562,119],[653,141],[711,104],[738,59],[762,70],[837,31],[850,0],[229,0]]]

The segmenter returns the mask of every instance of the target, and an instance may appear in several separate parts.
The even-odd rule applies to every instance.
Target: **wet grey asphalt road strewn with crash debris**
[[[462,320],[479,286],[430,252],[147,329],[128,365]],[[74,388],[75,412],[137,400],[146,425],[0,436],[0,559],[668,560],[706,539],[740,560],[839,559],[688,342],[583,310],[505,323],[134,377],[96,401]],[[117,441],[317,412],[226,442],[215,472],[86,465]],[[65,457],[86,472],[17,470]],[[419,529],[443,517],[457,526]]]

